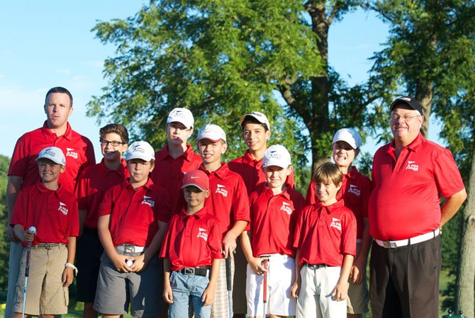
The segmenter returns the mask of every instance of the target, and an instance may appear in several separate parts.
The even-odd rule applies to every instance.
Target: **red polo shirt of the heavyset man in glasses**
[[[374,154],[374,190],[369,198],[369,234],[409,239],[440,227],[440,195],[464,189],[452,153],[418,135],[396,161],[394,141]]]

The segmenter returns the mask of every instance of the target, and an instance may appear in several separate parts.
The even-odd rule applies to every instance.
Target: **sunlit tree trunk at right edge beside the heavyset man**
[[[467,318],[475,318],[475,151],[471,161],[469,199],[463,210],[463,231],[460,245],[460,267],[457,276],[457,310],[463,310]]]

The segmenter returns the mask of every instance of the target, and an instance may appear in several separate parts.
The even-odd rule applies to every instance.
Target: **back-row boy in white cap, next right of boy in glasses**
[[[172,211],[179,212],[185,202],[181,195],[181,182],[186,172],[198,169],[201,157],[186,144],[193,134],[194,118],[186,108],[174,108],[167,118],[167,144],[155,152],[155,169],[150,178],[167,191]]]

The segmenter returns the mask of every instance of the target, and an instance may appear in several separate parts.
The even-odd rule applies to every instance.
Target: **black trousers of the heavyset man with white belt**
[[[369,293],[373,318],[439,317],[440,235],[386,249],[373,242]]]

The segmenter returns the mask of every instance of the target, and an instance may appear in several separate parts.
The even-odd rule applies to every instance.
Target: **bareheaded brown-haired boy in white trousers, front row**
[[[294,247],[296,317],[341,318],[347,314],[348,278],[356,254],[357,225],[353,212],[337,200],[342,187],[338,166],[326,163],[313,175],[318,203],[298,216]]]

